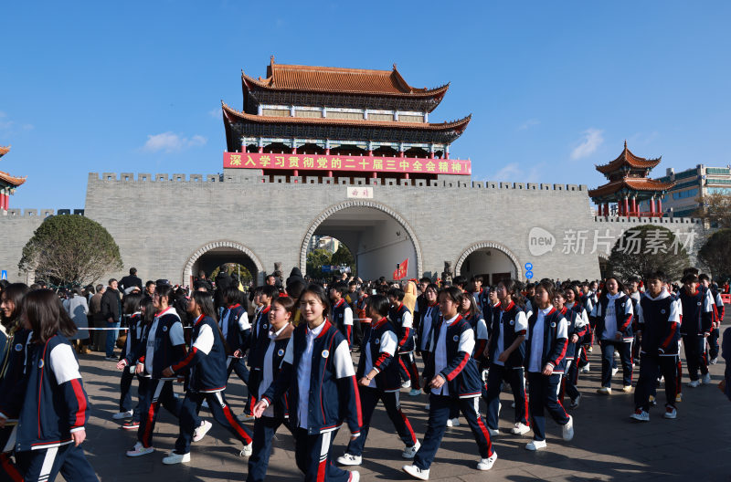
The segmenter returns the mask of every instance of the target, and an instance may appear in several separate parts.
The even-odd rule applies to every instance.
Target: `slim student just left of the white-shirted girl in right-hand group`
[[[578,408],[579,401],[581,400],[581,394],[578,393],[577,389],[578,361],[581,360],[582,356],[586,358],[583,341],[589,330],[588,314],[584,308],[584,304],[581,302],[576,285],[570,285],[564,289],[563,298],[566,301],[564,307],[571,310],[571,313],[561,313],[568,321],[567,368],[563,381],[566,393],[571,399],[571,403],[568,406],[570,408]],[[563,400],[563,393],[561,393],[559,399]]]

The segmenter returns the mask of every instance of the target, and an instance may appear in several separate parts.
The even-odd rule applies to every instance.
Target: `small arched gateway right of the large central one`
[[[518,258],[510,249],[493,241],[468,246],[457,258],[454,272],[468,279],[482,275],[484,285],[497,284],[503,278],[523,278]]]

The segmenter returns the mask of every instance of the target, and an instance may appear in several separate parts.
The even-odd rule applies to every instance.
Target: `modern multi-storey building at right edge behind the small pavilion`
[[[662,198],[663,214],[668,217],[694,217],[699,207],[699,196],[715,193],[731,194],[729,166],[706,167],[704,164],[698,164],[680,173],[668,168],[667,175],[656,181],[675,183]]]

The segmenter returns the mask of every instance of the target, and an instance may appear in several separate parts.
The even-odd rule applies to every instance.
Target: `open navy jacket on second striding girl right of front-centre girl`
[[[434,330],[434,350],[437,349],[437,341],[440,338],[441,330],[445,329],[444,325],[444,321],[441,320]],[[424,378],[431,380],[440,374],[447,381],[452,397],[469,398],[482,394],[482,377],[477,368],[477,362],[474,361],[471,353],[459,350],[461,334],[466,330],[472,330],[470,323],[458,316],[457,320],[446,327],[446,330],[444,341],[447,348],[447,367],[439,373],[435,373],[435,356],[432,354],[427,366],[424,367]],[[429,387],[425,387],[424,391],[429,391]]]

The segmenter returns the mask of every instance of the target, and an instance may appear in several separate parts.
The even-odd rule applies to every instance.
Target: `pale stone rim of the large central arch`
[[[377,213],[380,213],[385,218],[391,219],[393,222],[395,222],[399,226],[400,229],[403,229],[404,233],[399,233],[398,236],[404,236],[405,238],[408,238],[408,240],[411,242],[411,245],[413,246],[414,256],[416,257],[415,261],[415,267],[416,267],[416,277],[420,277],[421,273],[423,272],[423,257],[421,254],[421,246],[419,245],[418,238],[416,236],[416,233],[414,232],[414,229],[408,225],[408,222],[404,217],[400,214],[398,214],[395,210],[388,207],[385,204],[376,203],[374,201],[368,201],[368,200],[349,200],[344,201],[342,203],[334,204],[328,208],[326,208],[320,215],[317,215],[313,222],[308,226],[307,231],[305,232],[303,238],[302,238],[302,245],[300,247],[300,269],[302,269],[302,273],[305,272],[307,267],[307,249],[308,246],[310,246],[310,243],[313,239],[313,236],[315,236],[315,232],[318,230],[318,227],[323,225],[323,223],[327,222],[328,219],[330,219],[332,216],[343,212],[344,210],[357,210],[359,208],[361,212],[363,212],[364,209],[372,209],[376,210]],[[355,242],[350,241],[349,243],[346,243],[347,246],[354,246]],[[351,248],[351,251],[353,251],[353,248]],[[357,257],[357,253],[353,253],[355,257]],[[399,259],[397,262],[400,262]],[[409,262],[409,265],[411,262]],[[396,266],[391,267],[391,270],[395,269]],[[409,269],[410,270],[410,269]],[[388,273],[385,273],[387,276]]]

